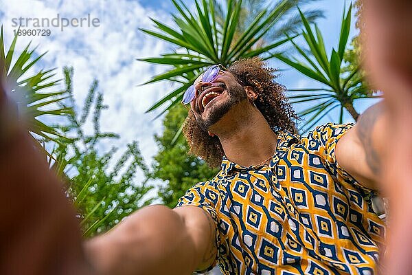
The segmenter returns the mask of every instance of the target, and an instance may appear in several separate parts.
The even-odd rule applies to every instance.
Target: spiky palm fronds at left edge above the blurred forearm
[[[8,93],[16,100],[19,110],[23,112],[27,129],[37,139],[54,140],[60,133],[54,126],[39,120],[44,115],[67,115],[70,107],[56,107],[56,103],[65,99],[65,91],[47,91],[55,88],[59,80],[52,80],[55,69],[47,69],[27,76],[27,71],[38,64],[45,55],[35,56],[30,43],[19,56],[14,56],[17,35],[14,36],[10,48],[5,52],[3,27],[0,34],[0,77],[5,79]],[[12,61],[15,60],[14,64]]]

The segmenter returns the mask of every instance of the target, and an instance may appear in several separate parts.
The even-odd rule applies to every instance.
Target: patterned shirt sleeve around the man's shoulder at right
[[[332,176],[336,177],[338,181],[342,179],[350,182],[350,184],[361,188],[362,190],[370,191],[358,183],[347,171],[345,171],[336,161],[335,148],[341,137],[351,129],[355,124],[336,124],[328,123],[318,126],[308,135],[308,141],[319,145],[319,155],[321,155],[324,163]]]

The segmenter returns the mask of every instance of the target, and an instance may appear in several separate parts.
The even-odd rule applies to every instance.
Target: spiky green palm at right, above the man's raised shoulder
[[[300,12],[300,11],[299,11]],[[339,122],[343,121],[343,110],[346,109],[352,118],[356,121],[359,113],[354,108],[354,101],[361,98],[374,98],[374,91],[369,89],[365,83],[365,77],[361,71],[361,67],[356,64],[345,63],[345,52],[347,52],[347,40],[350,32],[352,5],[347,12],[343,12],[341,23],[341,34],[339,37],[338,49],[332,49],[328,58],[323,43],[321,31],[314,24],[314,30],[310,27],[310,23],[300,12],[301,19],[304,21],[304,41],[309,50],[299,47],[293,38],[290,42],[298,52],[296,57],[288,57],[284,54],[277,54],[276,57],[290,67],[297,69],[308,78],[316,80],[324,87],[320,89],[290,89],[293,92],[289,96],[293,103],[312,103],[299,115],[307,116],[304,131],[312,128],[323,116],[339,108]],[[301,62],[301,61],[305,62]],[[319,103],[320,102],[320,103]]]

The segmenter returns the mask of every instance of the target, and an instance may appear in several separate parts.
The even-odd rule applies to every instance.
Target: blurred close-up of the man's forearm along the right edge
[[[365,63],[385,92],[389,122],[380,187],[389,195],[385,274],[412,274],[412,2],[363,0]]]

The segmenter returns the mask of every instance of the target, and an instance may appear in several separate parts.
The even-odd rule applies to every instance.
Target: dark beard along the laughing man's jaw
[[[233,106],[247,99],[246,93],[240,85],[228,86],[227,94],[229,96],[227,101],[210,107],[209,115],[206,119],[202,117],[197,118],[197,123],[203,131],[209,131],[209,127],[223,118]]]

